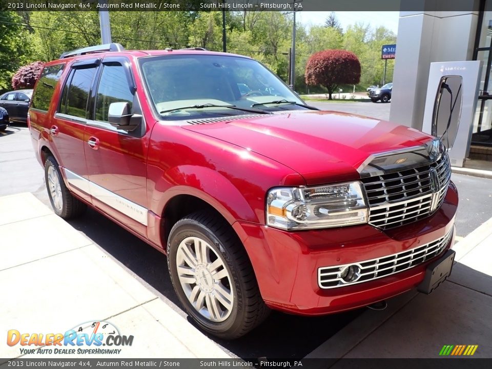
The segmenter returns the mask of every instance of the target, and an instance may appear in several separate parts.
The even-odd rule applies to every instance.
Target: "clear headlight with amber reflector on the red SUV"
[[[367,223],[360,182],[274,188],[267,194],[267,225],[285,230]]]

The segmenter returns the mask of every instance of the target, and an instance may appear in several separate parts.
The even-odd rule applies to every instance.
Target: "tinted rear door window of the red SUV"
[[[96,68],[72,69],[63,89],[60,112],[86,117],[87,99]]]

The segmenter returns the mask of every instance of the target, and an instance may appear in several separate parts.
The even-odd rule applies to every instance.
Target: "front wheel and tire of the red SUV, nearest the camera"
[[[203,330],[234,339],[268,316],[248,255],[218,215],[201,211],[179,220],[167,253],[178,298]]]

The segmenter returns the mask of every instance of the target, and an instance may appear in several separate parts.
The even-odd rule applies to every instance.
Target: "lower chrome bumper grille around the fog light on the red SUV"
[[[453,228],[445,236],[410,250],[352,264],[319,268],[318,285],[322,289],[338,288],[386,277],[416,267],[424,261],[432,259],[442,253],[452,235]],[[342,271],[351,265],[356,265],[359,268],[360,273],[356,280],[345,282],[341,278]]]

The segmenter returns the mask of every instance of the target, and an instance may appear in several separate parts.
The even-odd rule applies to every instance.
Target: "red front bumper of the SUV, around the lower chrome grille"
[[[263,300],[276,310],[321,315],[356,309],[396,296],[422,282],[427,265],[454,243],[458,193],[450,185],[441,208],[415,223],[382,231],[368,224],[286,232],[237,221],[233,227],[251,259]],[[363,283],[322,289],[318,269],[411,250],[449,232],[443,251],[416,267]]]

